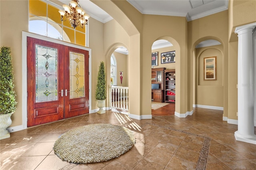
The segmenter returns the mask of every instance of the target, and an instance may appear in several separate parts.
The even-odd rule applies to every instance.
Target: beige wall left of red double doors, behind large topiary
[[[18,102],[16,112],[12,115],[12,127],[22,125],[22,31],[28,31],[28,1],[1,0],[0,1],[0,45],[11,48],[14,68],[14,90]],[[14,11],[22,12],[17,14]],[[8,19],[6,19],[8,16]],[[15,21],[15,22],[14,22]]]

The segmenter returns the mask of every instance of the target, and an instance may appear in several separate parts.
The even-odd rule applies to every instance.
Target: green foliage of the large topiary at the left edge
[[[12,72],[10,47],[1,47],[0,53],[0,114],[12,114],[16,110],[16,93]]]

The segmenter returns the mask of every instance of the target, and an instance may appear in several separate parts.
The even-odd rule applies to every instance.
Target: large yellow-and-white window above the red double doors
[[[62,9],[49,0],[29,0],[29,32],[88,46],[88,25],[71,28],[68,21],[61,21],[58,10]]]

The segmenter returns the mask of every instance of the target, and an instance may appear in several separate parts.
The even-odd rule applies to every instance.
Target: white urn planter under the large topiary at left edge
[[[12,114],[0,114],[0,140],[10,138],[10,132],[6,129],[12,124]]]

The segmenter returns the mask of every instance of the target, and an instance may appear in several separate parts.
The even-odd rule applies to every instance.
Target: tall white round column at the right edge
[[[254,63],[252,30],[249,24],[236,28],[238,34],[238,130],[236,140],[256,144],[254,134]]]

